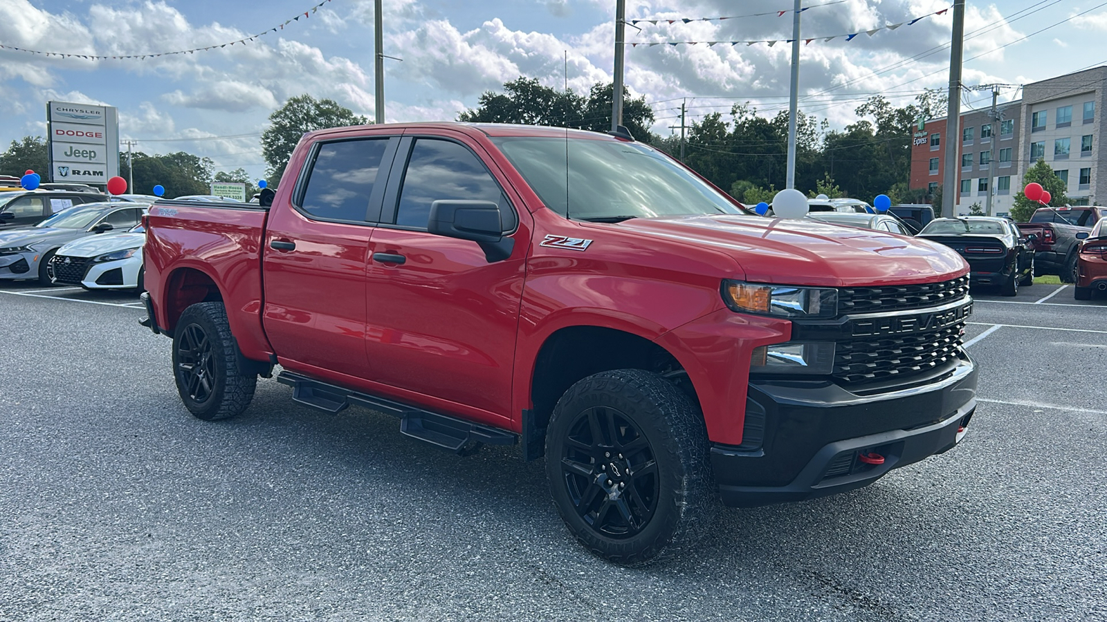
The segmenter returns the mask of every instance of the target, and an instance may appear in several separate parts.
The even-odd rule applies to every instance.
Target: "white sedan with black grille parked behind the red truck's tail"
[[[54,253],[50,277],[55,283],[84,289],[143,291],[142,247],[146,229],[137,225],[125,234],[74,240]]]

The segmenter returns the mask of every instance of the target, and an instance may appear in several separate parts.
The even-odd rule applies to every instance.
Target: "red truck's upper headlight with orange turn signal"
[[[764,286],[723,281],[723,301],[739,313],[790,319],[834,318],[838,314],[838,290]]]

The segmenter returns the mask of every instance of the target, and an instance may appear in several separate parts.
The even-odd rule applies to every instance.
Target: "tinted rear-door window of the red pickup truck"
[[[318,218],[365,220],[387,138],[320,145],[300,208]]]

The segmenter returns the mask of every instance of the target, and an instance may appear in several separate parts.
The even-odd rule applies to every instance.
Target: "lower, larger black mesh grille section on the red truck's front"
[[[958,357],[963,333],[960,322],[934,331],[839,341],[834,376],[858,384],[929,372]]]

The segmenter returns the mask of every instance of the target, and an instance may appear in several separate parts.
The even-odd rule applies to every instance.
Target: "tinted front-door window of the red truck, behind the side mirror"
[[[396,225],[425,228],[431,204],[441,199],[495,203],[504,214],[504,230],[515,228],[515,215],[503,190],[473,152],[457,143],[420,138],[404,173]]]

